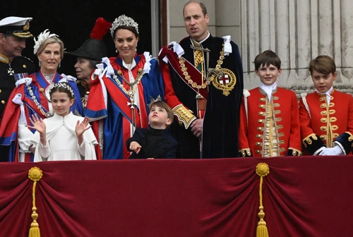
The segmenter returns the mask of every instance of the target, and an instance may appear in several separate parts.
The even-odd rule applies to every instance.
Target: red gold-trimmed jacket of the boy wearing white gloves
[[[304,99],[305,98],[305,99]],[[346,154],[352,150],[353,97],[333,90],[330,105],[326,95],[313,92],[299,102],[301,140],[306,150],[313,154],[321,147],[333,147],[340,142]],[[307,108],[306,108],[307,107]]]

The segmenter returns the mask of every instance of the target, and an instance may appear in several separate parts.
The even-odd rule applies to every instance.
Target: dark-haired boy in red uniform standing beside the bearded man
[[[301,155],[297,96],[277,87],[280,58],[273,51],[258,54],[255,73],[260,87],[244,90],[240,111],[239,153],[241,157]]]

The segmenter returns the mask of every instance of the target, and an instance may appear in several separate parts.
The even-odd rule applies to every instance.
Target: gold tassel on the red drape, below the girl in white
[[[30,233],[28,237],[40,237],[40,225],[37,222],[38,214],[37,214],[37,207],[35,207],[35,186],[37,185],[37,181],[40,181],[42,178],[43,173],[38,167],[32,167],[30,171],[28,171],[28,178],[33,181],[33,188],[32,188],[32,223],[30,224]]]

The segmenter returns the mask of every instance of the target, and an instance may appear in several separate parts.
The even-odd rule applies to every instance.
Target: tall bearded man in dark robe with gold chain
[[[208,32],[205,5],[189,1],[184,23],[189,37],[172,42],[159,54],[165,101],[176,122],[171,135],[178,158],[238,157],[238,128],[243,93],[239,48],[230,36]]]

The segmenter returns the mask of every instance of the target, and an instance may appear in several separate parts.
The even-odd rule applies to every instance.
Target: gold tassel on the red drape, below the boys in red
[[[260,221],[258,221],[258,228],[256,229],[256,237],[268,237],[268,229],[266,226],[266,222],[263,220],[265,217],[265,212],[263,212],[263,177],[270,174],[270,168],[268,164],[259,163],[256,166],[256,174],[260,176],[260,188],[259,188],[259,195],[260,195],[260,212],[258,212],[258,217]]]

